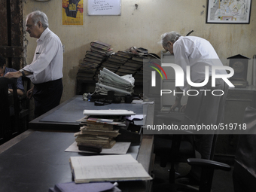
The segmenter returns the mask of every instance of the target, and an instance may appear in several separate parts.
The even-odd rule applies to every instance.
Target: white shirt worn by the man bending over
[[[187,66],[190,66],[190,79],[194,83],[200,83],[206,78],[205,66],[209,66],[209,76],[212,75],[212,66],[223,66],[212,44],[206,39],[194,36],[181,36],[173,44],[175,64],[181,66],[184,72],[184,87],[188,90]],[[227,74],[225,70],[217,70],[216,74]]]

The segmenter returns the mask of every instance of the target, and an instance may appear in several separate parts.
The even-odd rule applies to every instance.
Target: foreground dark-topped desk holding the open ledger
[[[59,107],[61,108],[58,106],[50,113]],[[154,105],[151,105],[150,108],[151,110],[148,110],[150,111],[149,115],[154,111]],[[42,116],[46,117],[45,115]],[[43,117],[40,117],[39,120]],[[39,120],[37,123],[40,124],[40,128],[47,126],[47,122],[39,122]],[[148,117],[147,120],[153,120],[153,117]],[[49,124],[53,126],[54,123],[50,122]],[[65,123],[56,123],[56,126],[61,127],[63,124]],[[75,125],[72,124],[68,127],[74,128]],[[47,191],[54,184],[72,181],[69,157],[84,155],[65,152],[65,149],[72,142],[75,142],[73,133],[53,130],[27,130],[1,145],[0,191]],[[137,155],[139,163],[142,163],[142,166],[150,174],[154,164],[153,142],[154,136],[142,136]],[[139,145],[139,143],[132,145]],[[118,183],[122,191],[151,191],[151,181],[123,181]]]

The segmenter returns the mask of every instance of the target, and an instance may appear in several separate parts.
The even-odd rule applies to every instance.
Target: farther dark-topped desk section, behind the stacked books
[[[93,102],[83,101],[82,96],[77,95],[30,121],[29,129],[78,131],[80,127],[77,120],[84,117],[84,109],[126,109],[134,111],[136,114],[143,114],[145,107],[148,107],[148,112],[154,111],[154,105],[112,103],[111,105],[95,106]],[[153,117],[153,114],[147,115],[146,120],[153,122]]]

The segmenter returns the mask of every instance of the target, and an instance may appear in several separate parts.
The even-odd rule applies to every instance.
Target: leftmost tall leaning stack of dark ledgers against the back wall
[[[86,52],[83,61],[79,65],[77,79],[97,80],[99,66],[101,66],[102,62],[113,53],[111,45],[101,41],[92,41],[90,46],[90,50]]]

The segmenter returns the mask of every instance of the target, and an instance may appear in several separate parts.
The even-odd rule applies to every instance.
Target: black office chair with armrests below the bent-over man
[[[156,117],[157,119],[166,120],[166,122],[172,121],[173,123],[178,123],[181,121],[172,117],[171,114],[160,114]],[[230,167],[227,164],[212,161],[215,152],[217,135],[214,135],[212,139],[210,160],[195,158],[196,150],[194,146],[193,132],[186,130],[175,130],[175,134],[173,135],[155,136],[154,140],[154,153],[157,156],[160,156],[160,166],[166,167],[167,162],[170,163],[169,184],[162,184],[162,186],[159,185],[159,187],[163,187],[164,189],[169,188],[172,189],[172,191],[208,191],[206,188],[212,186],[211,184],[214,169],[227,170],[227,167]],[[191,166],[200,166],[201,174],[203,174],[200,179],[200,186],[202,187],[192,187],[190,185],[181,184],[180,182],[175,181],[175,163],[188,163]],[[206,165],[208,167],[206,167]],[[207,172],[208,175],[206,176]]]

